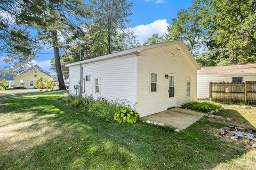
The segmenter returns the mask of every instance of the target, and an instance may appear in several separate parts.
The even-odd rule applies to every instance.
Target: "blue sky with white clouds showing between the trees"
[[[153,33],[163,35],[167,26],[171,24],[171,19],[177,17],[177,13],[182,8],[192,5],[190,0],[134,0],[132,15],[130,16],[131,30],[137,35],[140,43],[143,43]],[[53,53],[53,49],[44,47],[40,53]],[[6,64],[0,56],[0,70],[4,70]],[[43,69],[50,71],[50,60],[53,54],[37,54],[33,61]]]

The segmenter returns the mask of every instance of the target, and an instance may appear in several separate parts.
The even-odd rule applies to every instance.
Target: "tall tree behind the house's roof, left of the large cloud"
[[[94,56],[124,50],[136,43],[133,32],[127,27],[131,6],[127,0],[90,0],[93,18],[89,35]]]

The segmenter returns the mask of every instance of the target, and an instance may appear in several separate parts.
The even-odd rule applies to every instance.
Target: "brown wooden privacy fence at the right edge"
[[[249,101],[250,103],[256,103],[256,81],[243,83],[210,82],[209,97],[219,101]]]

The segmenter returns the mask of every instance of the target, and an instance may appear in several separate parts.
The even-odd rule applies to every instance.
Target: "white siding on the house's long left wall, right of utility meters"
[[[130,105],[136,103],[134,55],[82,64],[82,67],[83,75],[91,75],[91,81],[85,81],[84,94],[92,95],[95,99],[102,96],[110,100],[126,99]],[[79,66],[76,76],[79,79]],[[94,79],[96,78],[100,78],[100,93],[95,93]]]

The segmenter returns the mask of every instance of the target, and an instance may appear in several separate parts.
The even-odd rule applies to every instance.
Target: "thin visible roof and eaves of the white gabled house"
[[[138,46],[138,47],[123,50],[121,52],[111,53],[111,54],[107,54],[107,55],[103,55],[103,56],[99,56],[99,57],[95,57],[95,58],[90,58],[88,60],[83,60],[83,61],[79,61],[79,62],[75,62],[75,63],[66,64],[65,66],[69,67],[69,66],[78,65],[78,64],[86,64],[86,63],[93,63],[93,62],[108,60],[110,58],[122,57],[122,56],[126,56],[126,55],[131,55],[131,54],[139,54],[139,53],[141,53],[141,50],[163,47],[163,46],[174,45],[174,44],[178,44],[181,47],[183,52],[188,56],[191,63],[196,67],[196,69],[199,70],[200,69],[199,64],[196,62],[194,56],[189,52],[187,46],[181,40]]]

